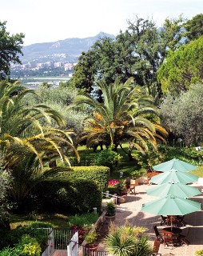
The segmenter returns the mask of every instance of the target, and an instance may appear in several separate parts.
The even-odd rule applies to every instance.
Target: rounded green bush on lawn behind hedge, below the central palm
[[[121,155],[112,150],[102,150],[95,155],[95,164],[98,166],[108,166],[110,172],[121,162]]]

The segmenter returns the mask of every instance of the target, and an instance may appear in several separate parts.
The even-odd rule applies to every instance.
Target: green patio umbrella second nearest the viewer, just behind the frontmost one
[[[163,198],[169,194],[176,195],[180,198],[190,198],[197,194],[201,194],[200,190],[196,187],[181,184],[179,182],[169,182],[162,185],[156,185],[146,190],[146,193],[158,198]]]

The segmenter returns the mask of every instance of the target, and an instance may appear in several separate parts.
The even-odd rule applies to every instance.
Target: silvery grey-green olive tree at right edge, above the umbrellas
[[[202,98],[203,85],[197,83],[176,97],[167,94],[160,105],[163,124],[188,146],[200,146],[203,141]]]

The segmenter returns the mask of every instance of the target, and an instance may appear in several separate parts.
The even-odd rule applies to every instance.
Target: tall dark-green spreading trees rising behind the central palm
[[[115,40],[101,38],[82,54],[74,69],[74,86],[90,94],[101,79],[109,84],[116,78],[125,82],[133,77],[135,84],[155,85],[160,93],[156,72],[167,51],[179,46],[182,22],[181,17],[166,19],[162,28],[157,29],[148,19],[136,17],[128,21],[128,29],[121,31]]]

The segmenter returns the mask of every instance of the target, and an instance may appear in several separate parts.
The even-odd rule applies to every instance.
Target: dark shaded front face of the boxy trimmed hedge
[[[82,214],[102,207],[102,190],[99,184],[87,179],[74,181],[54,178],[35,187],[38,210],[46,213]]]

